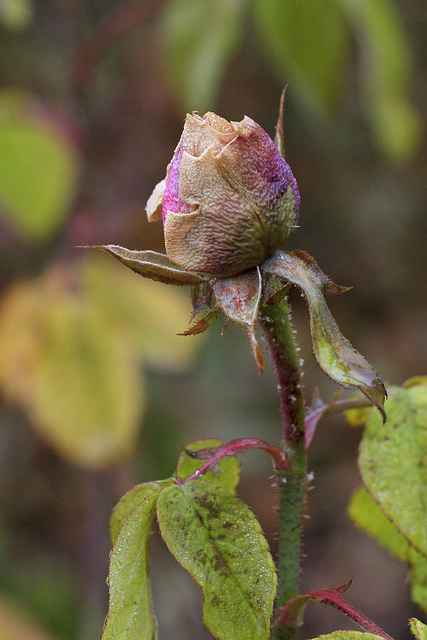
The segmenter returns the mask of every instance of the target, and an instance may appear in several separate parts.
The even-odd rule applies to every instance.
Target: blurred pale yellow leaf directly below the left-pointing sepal
[[[105,254],[84,257],[79,280],[111,329],[132,340],[144,362],[172,372],[188,368],[199,344],[177,335],[188,323],[188,291],[138,278]]]

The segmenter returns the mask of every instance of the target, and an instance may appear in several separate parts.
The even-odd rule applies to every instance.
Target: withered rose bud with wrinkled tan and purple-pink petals
[[[260,265],[283,244],[299,202],[289,165],[256,122],[193,113],[147,216],[163,218],[172,262],[226,277]]]

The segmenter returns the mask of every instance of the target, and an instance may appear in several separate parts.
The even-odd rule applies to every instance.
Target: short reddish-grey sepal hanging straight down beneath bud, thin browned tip
[[[259,373],[265,369],[265,359],[255,335],[261,300],[262,281],[259,267],[237,276],[218,278],[212,285],[217,306],[232,322],[245,327]]]

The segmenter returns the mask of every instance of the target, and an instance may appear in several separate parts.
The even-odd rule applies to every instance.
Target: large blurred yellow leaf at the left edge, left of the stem
[[[138,365],[73,269],[54,267],[6,295],[0,385],[71,461],[101,468],[132,453],[144,408]]]

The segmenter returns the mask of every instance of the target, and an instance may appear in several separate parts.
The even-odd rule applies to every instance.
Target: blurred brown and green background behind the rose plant
[[[335,282],[341,330],[387,384],[426,372],[424,0],[0,0],[0,639],[99,638],[108,520],[136,482],[201,437],[278,442],[271,363],[221,321],[183,338],[189,292],[95,251],[163,251],[144,207],[185,113],[249,115],[274,136],[282,87],[301,227],[287,249]],[[307,404],[336,387],[291,295]],[[345,397],[345,394],[344,394]],[[325,419],[302,589],[354,578],[347,600],[409,637],[405,568],[346,515],[360,432]],[[273,551],[270,463],[242,458],[239,495]],[[200,596],[153,536],[160,637],[210,637]],[[353,628],[308,607],[304,637]]]

